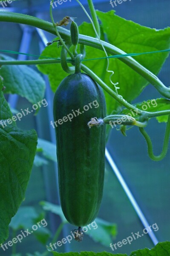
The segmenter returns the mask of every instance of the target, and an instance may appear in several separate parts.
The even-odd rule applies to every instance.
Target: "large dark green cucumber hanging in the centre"
[[[99,107],[83,107],[97,100]],[[69,223],[82,227],[97,216],[104,185],[105,125],[89,129],[92,117],[106,116],[103,90],[84,73],[67,76],[54,96],[54,121],[84,111],[55,127],[58,158],[58,182],[63,214]],[[75,111],[76,113],[76,111]]]

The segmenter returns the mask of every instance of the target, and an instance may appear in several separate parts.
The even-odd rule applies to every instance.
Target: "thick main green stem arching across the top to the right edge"
[[[5,22],[14,22],[14,23],[21,23],[30,26],[35,26],[37,28],[43,29],[49,33],[56,35],[55,28],[53,27],[52,23],[48,21],[41,20],[39,18],[24,15],[20,13],[12,13],[12,12],[0,12],[0,21]],[[70,31],[68,29],[64,29],[62,27],[58,27],[58,32],[62,36],[62,38],[66,41],[70,38]],[[122,51],[121,49],[109,44],[107,42],[101,41],[103,46],[105,47],[107,53],[111,55],[120,55],[126,54],[126,52]],[[88,45],[97,49],[103,49],[100,42],[97,38],[92,38],[86,35],[79,35],[79,44]],[[120,61],[127,64],[133,70],[135,70],[138,74],[143,76],[149,83],[153,84],[154,87],[161,93],[164,97],[170,99],[170,88],[166,87],[153,73],[135,61],[132,57],[127,56],[120,58]]]

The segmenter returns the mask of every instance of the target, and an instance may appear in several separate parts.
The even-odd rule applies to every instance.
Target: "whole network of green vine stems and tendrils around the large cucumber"
[[[52,0],[53,3],[54,0]],[[52,20],[52,23],[46,22],[44,20],[40,20],[38,18],[28,16],[27,19],[24,19],[24,15],[21,14],[15,14],[15,13],[9,13],[0,12],[0,21],[7,21],[7,22],[15,22],[15,23],[23,23],[27,25],[32,25],[39,27],[45,31],[51,32],[52,34],[55,34],[58,36],[60,44],[62,45],[61,49],[61,59],[43,59],[43,60],[36,60],[36,61],[0,61],[0,65],[8,64],[8,65],[14,65],[14,64],[50,64],[50,63],[61,63],[61,66],[64,71],[67,73],[79,73],[81,70],[84,71],[86,74],[88,74],[92,79],[94,79],[107,93],[109,93],[110,96],[112,96],[119,104],[124,106],[125,108],[129,110],[136,111],[138,115],[140,116],[140,122],[132,118],[132,120],[129,120],[129,122],[123,123],[124,125],[137,125],[139,126],[139,130],[141,134],[144,136],[145,140],[147,141],[147,147],[148,147],[148,153],[151,159],[153,160],[161,160],[164,158],[164,156],[167,153],[167,145],[168,140],[170,136],[170,110],[164,110],[164,111],[156,111],[156,112],[148,112],[148,111],[141,111],[135,106],[131,105],[129,102],[123,99],[121,95],[118,94],[118,89],[116,85],[118,83],[113,83],[111,80],[111,76],[114,74],[113,71],[108,70],[109,68],[109,58],[108,54],[126,54],[121,49],[118,49],[117,47],[102,41],[100,39],[101,33],[100,33],[100,26],[98,23],[98,18],[95,13],[95,8],[93,6],[92,0],[88,0],[89,9],[92,15],[92,18],[89,16],[89,14],[86,12],[86,9],[84,6],[80,3],[79,0],[76,0],[81,8],[86,13],[87,17],[89,18],[90,22],[92,23],[93,29],[95,31],[97,38],[92,38],[86,35],[79,35],[78,31],[76,32],[76,29],[78,29],[77,24],[72,20],[70,17],[67,18],[67,23],[69,21],[72,22],[71,32],[74,31],[74,34],[76,35],[76,42],[73,42],[74,36],[72,37],[72,34],[70,35],[69,30],[62,28],[61,26],[57,25],[54,21],[53,15],[52,15],[52,5],[50,5],[50,17]],[[68,19],[69,18],[69,19]],[[72,32],[73,33],[73,32]],[[49,43],[51,44],[51,43]],[[72,52],[69,50],[72,46]],[[77,52],[77,44],[80,44],[80,52],[81,54],[78,54]],[[115,92],[102,81],[95,73],[92,72],[88,67],[86,67],[84,64],[81,63],[81,60],[85,57],[85,45],[95,47],[97,49],[101,49],[105,52],[105,55],[107,57],[107,67],[106,71],[111,73],[109,77],[109,81],[115,86]],[[67,54],[69,54],[70,58],[67,57]],[[164,97],[170,99],[170,88],[166,87],[153,73],[151,73],[149,70],[147,70],[145,67],[143,67],[141,64],[139,64],[137,61],[135,61],[130,56],[125,56],[120,59],[125,64],[127,64],[129,67],[131,67],[133,70],[135,70],[138,74],[143,76],[147,81],[149,81],[151,84],[153,84],[154,87],[156,87],[156,90],[158,90],[161,95]],[[73,66],[68,66],[68,63],[71,63]],[[167,129],[166,134],[164,138],[164,146],[163,151],[159,156],[155,156],[153,154],[153,148],[152,148],[152,142],[150,140],[149,135],[144,130],[144,127],[147,125],[147,121],[149,118],[162,116],[162,115],[169,115],[168,122],[167,122]],[[125,116],[124,116],[125,117]],[[103,123],[108,124],[109,122],[112,122],[113,120],[116,121],[120,118],[118,115],[111,115],[105,117],[103,119]],[[142,121],[141,121],[142,120]],[[89,122],[89,126],[93,125],[101,125],[101,120],[92,118],[92,120]]]

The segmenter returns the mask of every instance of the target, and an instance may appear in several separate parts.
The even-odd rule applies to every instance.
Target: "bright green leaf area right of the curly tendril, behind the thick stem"
[[[107,13],[96,12],[109,43],[126,53],[151,52],[170,48],[170,27],[160,30],[151,29],[119,17],[114,14],[113,10]],[[135,56],[134,59],[157,75],[168,55],[168,52],[160,52]],[[94,54],[90,58],[93,58],[93,56]],[[109,61],[109,69],[115,72],[112,81],[119,82],[120,89],[118,93],[125,100],[131,102],[148,85],[148,82],[124,64],[121,59],[109,59]],[[98,65],[96,65],[95,70],[98,68]],[[107,74],[105,82],[112,87],[108,77]],[[115,100],[107,96],[107,111],[109,114],[116,109],[117,105]]]

